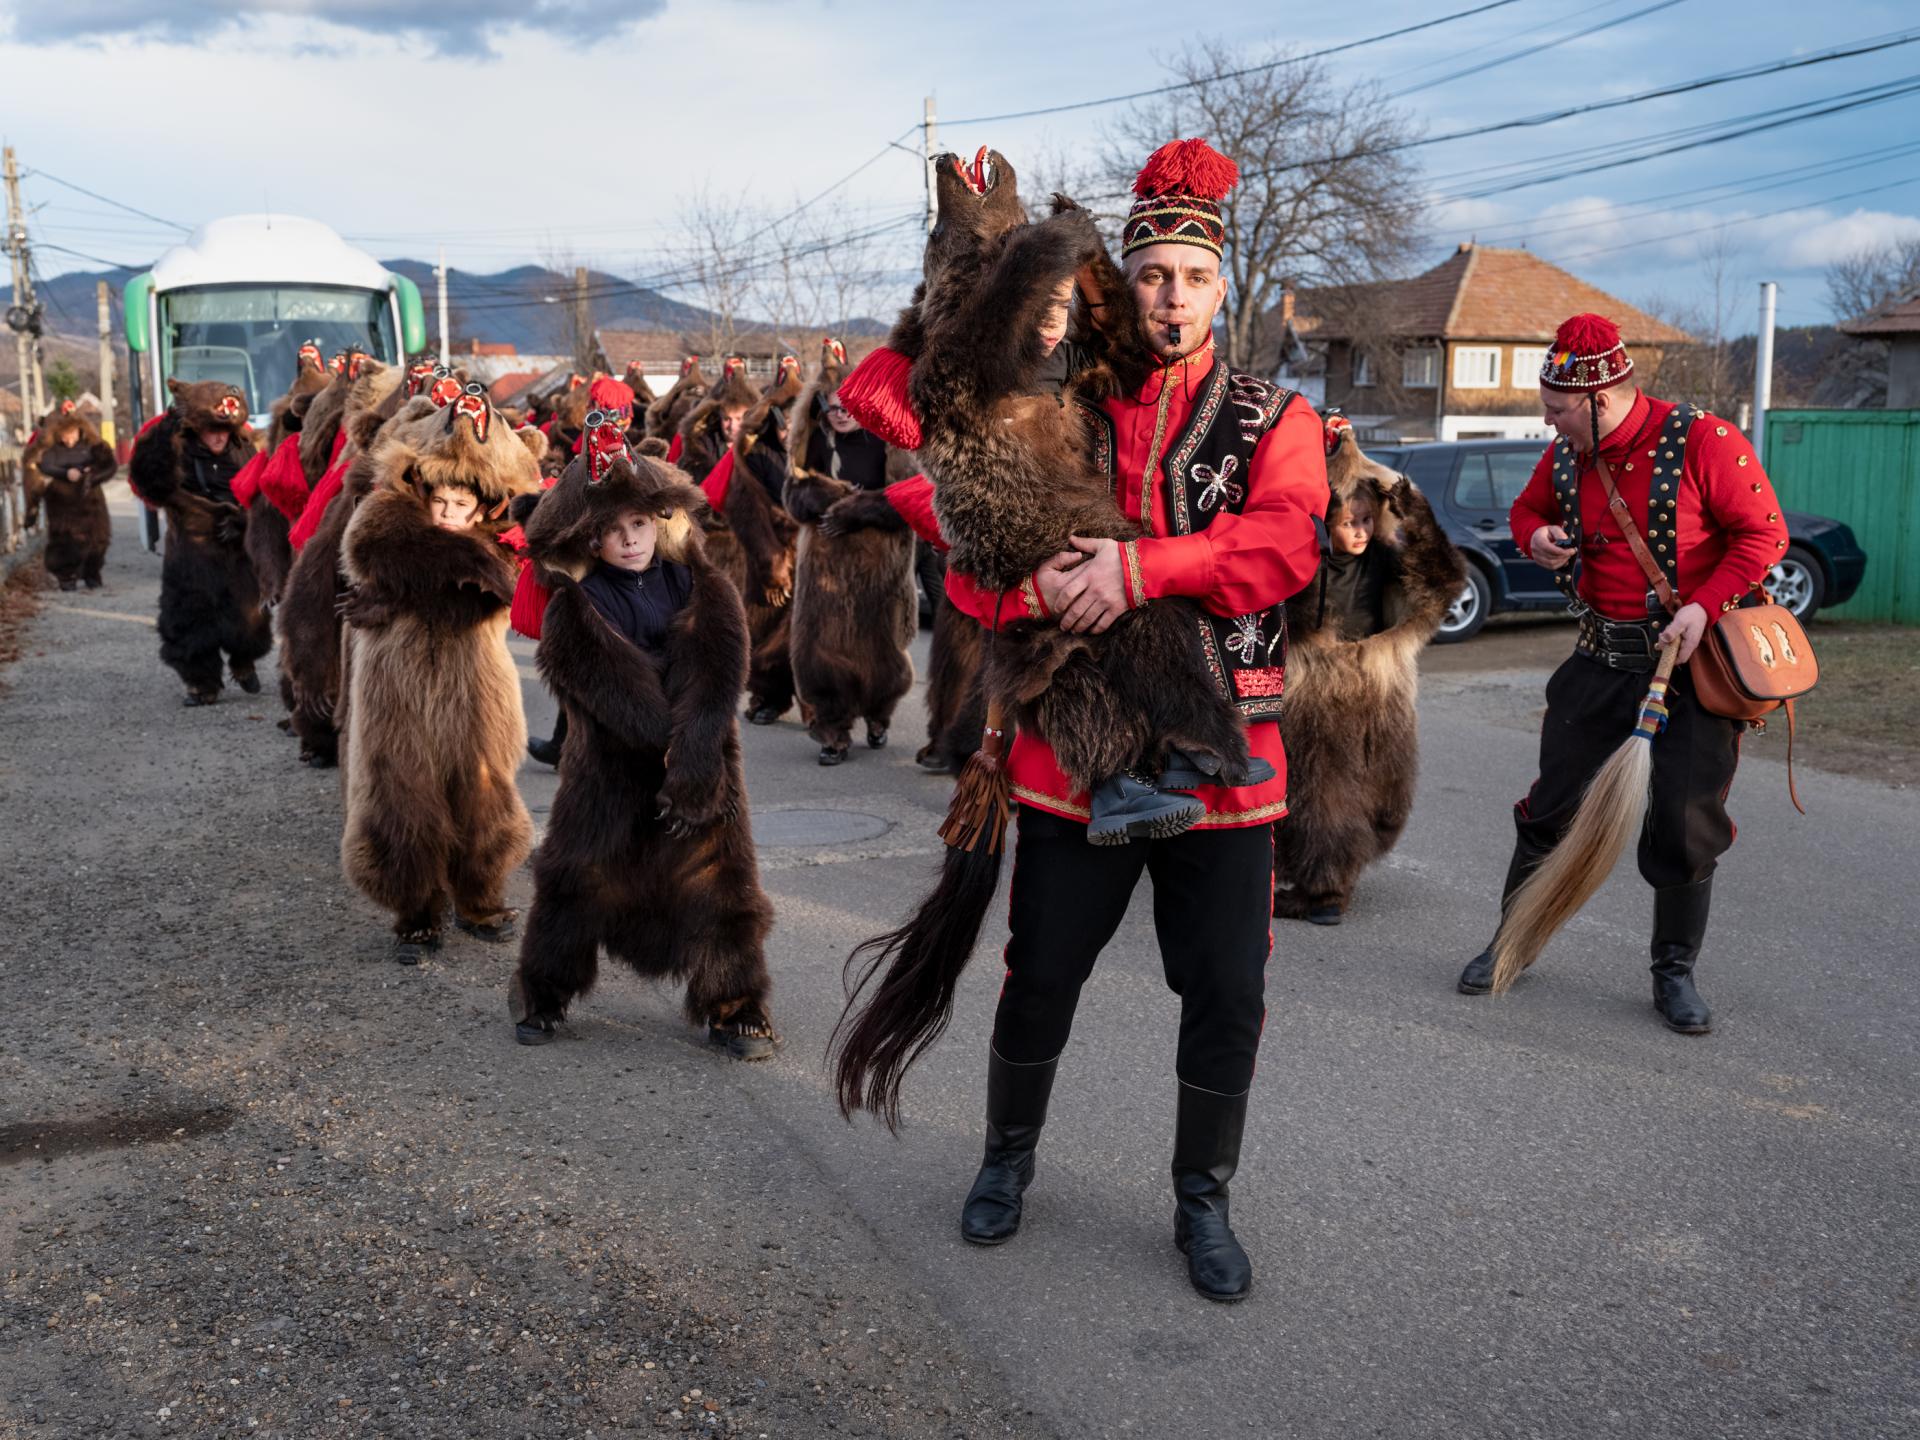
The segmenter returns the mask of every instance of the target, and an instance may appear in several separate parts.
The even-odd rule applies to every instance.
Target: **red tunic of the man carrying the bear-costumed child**
[[[1213,369],[1213,348],[1154,372],[1139,396],[1106,401],[1117,432],[1119,507],[1144,520],[1148,536],[1121,551],[1127,603],[1187,595],[1213,614],[1248,614],[1296,595],[1319,568],[1315,516],[1327,515],[1327,451],[1313,407],[1296,399],[1261,436],[1248,467],[1246,505],[1215,515],[1206,530],[1169,534],[1165,449],[1187,424],[1194,397]],[[893,486],[899,490],[899,486]],[[891,497],[891,490],[889,490]],[[1033,580],[1004,595],[981,589],[948,568],[947,595],[983,626],[1044,616]],[[1254,755],[1273,764],[1261,785],[1206,785],[1202,826],[1261,826],[1286,814],[1286,753],[1281,726],[1260,720],[1246,730]],[[1008,753],[1014,797],[1050,814],[1087,820],[1087,793],[1075,791],[1052,747],[1021,730]]]

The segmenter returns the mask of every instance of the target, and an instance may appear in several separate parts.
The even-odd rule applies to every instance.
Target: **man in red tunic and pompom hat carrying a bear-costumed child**
[[[987,1154],[962,1235],[998,1244],[1020,1227],[1081,985],[1144,872],[1154,879],[1162,966],[1181,996],[1175,1242],[1204,1296],[1240,1300],[1252,1265],[1227,1223],[1227,1183],[1265,1020],[1271,828],[1286,814],[1281,607],[1319,564],[1327,457],[1321,420],[1306,401],[1229,374],[1213,355],[1213,317],[1227,294],[1219,202],[1233,165],[1204,142],[1179,146],[1179,165],[1142,171],[1121,246],[1162,369],[1137,394],[1104,403],[1106,434],[1096,442],[1116,497],[1148,536],[1075,538],[1018,593],[983,591],[948,570],[947,593],[985,626],[1056,618],[1071,632],[1106,630],[1165,595],[1198,601],[1208,632],[1194,643],[1246,714],[1252,753],[1275,774],[1238,789],[1200,785],[1206,814],[1181,835],[1096,847],[1087,843],[1089,797],[1068,783],[1046,741],[1025,730],[1014,739],[1012,935],[987,1073]]]

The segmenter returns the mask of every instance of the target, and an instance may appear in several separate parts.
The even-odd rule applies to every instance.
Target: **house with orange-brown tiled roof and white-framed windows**
[[[1286,292],[1279,378],[1338,405],[1361,440],[1546,436],[1540,363],[1569,315],[1611,317],[1651,386],[1692,336],[1526,250],[1467,242],[1409,280]]]

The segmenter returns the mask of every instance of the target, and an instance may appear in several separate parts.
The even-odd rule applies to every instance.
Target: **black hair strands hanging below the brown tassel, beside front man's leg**
[[[889,1131],[900,1127],[900,1081],[952,1020],[960,972],[998,883],[998,847],[948,849],[914,918],[847,958],[847,1010],[828,1043],[843,1116],[868,1110]]]

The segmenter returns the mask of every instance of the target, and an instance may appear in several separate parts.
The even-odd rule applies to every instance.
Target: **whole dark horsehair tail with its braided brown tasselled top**
[[[1012,810],[1004,753],[1006,707],[989,701],[979,751],[960,772],[941,824],[947,856],[939,883],[912,920],[847,956],[847,1008],[828,1041],[828,1058],[849,1119],[854,1110],[870,1110],[897,1131],[900,1081],[952,1020],[960,972],[973,958],[973,941],[1000,883],[1000,847]]]

